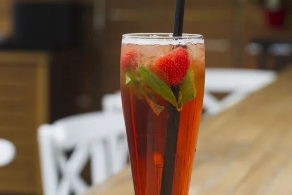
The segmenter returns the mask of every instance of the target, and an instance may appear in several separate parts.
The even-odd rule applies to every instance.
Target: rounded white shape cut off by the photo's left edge
[[[7,140],[0,138],[0,167],[6,166],[15,158],[16,148],[14,144]]]

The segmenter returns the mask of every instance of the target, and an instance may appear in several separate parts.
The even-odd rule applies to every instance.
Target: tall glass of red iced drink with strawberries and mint
[[[121,93],[135,195],[188,195],[204,80],[203,36],[123,35]]]

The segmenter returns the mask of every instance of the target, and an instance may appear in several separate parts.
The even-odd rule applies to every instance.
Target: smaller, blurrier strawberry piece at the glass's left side
[[[121,54],[121,67],[124,69],[132,69],[138,66],[138,53],[135,49],[130,49],[127,53]]]

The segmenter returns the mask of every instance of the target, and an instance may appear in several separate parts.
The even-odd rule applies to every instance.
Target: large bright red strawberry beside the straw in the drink
[[[153,69],[164,76],[169,84],[176,86],[183,82],[189,64],[188,52],[183,47],[177,47],[171,53],[156,59]]]

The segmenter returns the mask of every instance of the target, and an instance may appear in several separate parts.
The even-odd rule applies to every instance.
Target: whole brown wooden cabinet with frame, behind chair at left
[[[0,194],[40,194],[37,127],[48,122],[49,55],[0,52],[0,137],[17,155],[0,167]]]

